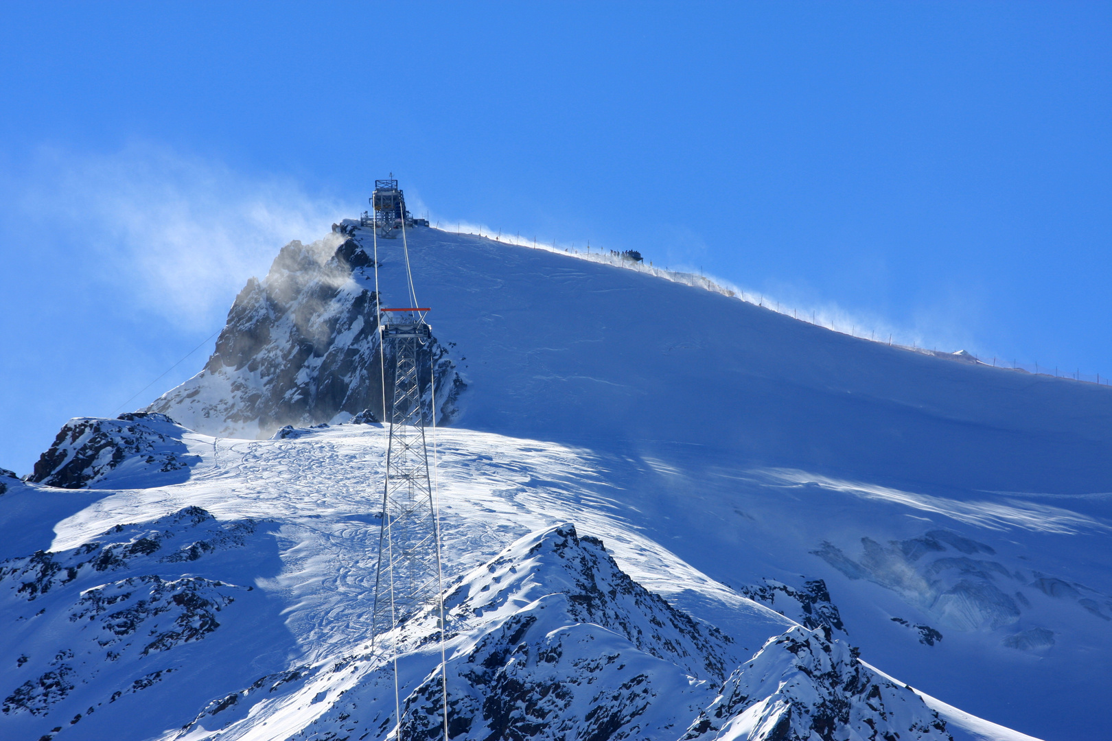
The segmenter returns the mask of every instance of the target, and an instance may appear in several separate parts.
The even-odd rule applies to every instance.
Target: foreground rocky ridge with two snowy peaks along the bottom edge
[[[713,739],[742,717],[756,730],[721,738],[802,740],[814,731],[833,741],[848,729],[862,739],[950,738],[911,690],[802,627],[770,640],[723,685],[737,661],[732,641],[634,582],[600,541],[570,524],[527,535],[475,569],[445,608],[450,738]],[[331,671],[291,670],[290,692],[327,698],[291,738],[443,738],[438,633],[426,614],[385,637],[387,655],[403,652],[400,737],[391,667],[355,657]],[[260,722],[267,705],[248,707],[271,695],[259,688],[276,678],[215,700],[182,734],[235,737]]]

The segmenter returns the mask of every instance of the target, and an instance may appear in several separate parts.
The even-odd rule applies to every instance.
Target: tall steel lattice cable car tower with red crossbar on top
[[[376,638],[439,604],[439,523],[418,380],[430,339],[431,330],[418,312],[393,312],[383,323],[383,342],[393,349],[395,372],[375,579]]]

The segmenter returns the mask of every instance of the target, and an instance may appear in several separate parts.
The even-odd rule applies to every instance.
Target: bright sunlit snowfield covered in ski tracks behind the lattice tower
[[[186,507],[226,520],[280,521],[285,573],[259,585],[286,595],[288,619],[311,649],[310,659],[320,660],[370,637],[386,433],[350,430],[296,441],[190,435],[191,452],[205,463],[187,483],[98,492],[108,495],[58,523],[50,550],[77,548],[118,523]],[[584,533],[603,538],[624,570],[654,591],[668,595],[682,584],[703,598],[783,621],[620,522],[620,504],[594,493],[613,487],[576,451],[444,428],[437,443],[448,574],[481,563],[527,532],[573,521]]]

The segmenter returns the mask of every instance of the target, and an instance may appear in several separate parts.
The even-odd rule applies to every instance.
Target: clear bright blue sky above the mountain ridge
[[[1106,2],[7,2],[0,111],[20,473],[390,171],[441,222],[1112,375]]]

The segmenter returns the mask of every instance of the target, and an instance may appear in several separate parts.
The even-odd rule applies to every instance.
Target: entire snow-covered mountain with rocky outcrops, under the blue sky
[[[0,735],[386,738],[400,652],[437,738],[434,617],[368,644],[368,237],[288,246],[201,373],[0,475]],[[409,246],[450,423],[451,738],[1105,733],[1109,389],[608,257]],[[379,242],[386,307],[399,247]]]

